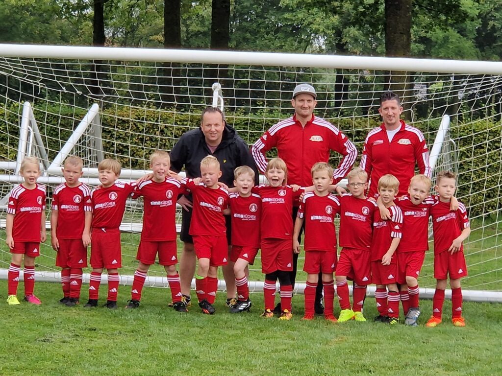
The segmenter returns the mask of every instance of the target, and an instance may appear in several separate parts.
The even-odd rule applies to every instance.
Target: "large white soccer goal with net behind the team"
[[[341,129],[360,155],[367,132],[380,122],[380,94],[390,89],[401,95],[407,121],[427,138],[434,173],[458,172],[457,197],[469,210],[472,228],[465,242],[469,276],[463,281],[470,291],[464,296],[500,301],[499,72],[502,64],[494,62],[2,45],[0,194],[5,198],[21,181],[16,170],[20,155],[41,158],[40,181],[49,185],[49,198],[51,187],[62,181],[61,163],[71,153],[85,160],[83,181],[91,185],[97,184],[95,168],[103,157],[122,163],[121,178],[136,178],[148,169],[153,150],[170,150],[181,134],[199,126],[202,109],[211,105],[223,108],[227,122],[252,144],[272,124],[291,116],[293,88],[303,82],[316,88],[316,114]],[[338,156],[331,162],[336,165]],[[141,202],[129,203],[121,227],[123,283],[132,282],[136,269],[141,219]],[[5,239],[5,230],[0,236]],[[39,270],[58,280],[49,242],[41,254]],[[9,260],[4,245],[0,267],[7,268]],[[434,287],[432,260],[429,252],[421,277],[424,294]],[[152,268],[149,277],[147,285],[167,286],[160,267]],[[259,259],[250,279],[257,281],[250,287],[259,290]],[[301,292],[302,272],[297,280]]]

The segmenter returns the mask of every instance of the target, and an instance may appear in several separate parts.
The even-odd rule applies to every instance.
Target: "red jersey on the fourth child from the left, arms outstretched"
[[[171,177],[160,183],[151,179],[136,185],[133,198],[143,196],[145,208],[142,240],[176,240],[176,200],[185,191],[185,186]]]

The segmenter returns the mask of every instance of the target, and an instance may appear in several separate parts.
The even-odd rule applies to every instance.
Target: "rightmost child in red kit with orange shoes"
[[[434,189],[439,200],[431,208],[432,229],[434,231],[434,293],[432,317],[426,326],[435,327],[441,323],[444,290],[448,276],[451,287],[452,322],[455,326],[465,326],[462,317],[462,289],[460,278],[467,276],[467,266],[462,242],[470,234],[469,218],[463,204],[458,203],[455,212],[450,211],[450,202],[456,188],[456,175],[442,171],[437,176]]]

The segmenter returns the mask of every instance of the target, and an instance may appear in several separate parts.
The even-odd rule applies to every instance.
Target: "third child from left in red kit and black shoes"
[[[89,301],[84,307],[97,307],[101,273],[105,268],[108,272],[108,297],[105,306],[115,309],[119,282],[118,268],[122,267],[119,227],[126,210],[126,201],[133,193],[136,183],[116,181],[121,167],[114,159],[103,159],[97,168],[101,185],[91,193],[92,272],[89,278]]]

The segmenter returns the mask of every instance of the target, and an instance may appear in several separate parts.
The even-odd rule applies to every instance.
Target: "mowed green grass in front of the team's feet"
[[[23,283],[20,283],[22,295]],[[252,294],[252,312],[232,315],[218,295],[215,315],[192,307],[167,307],[168,289],[145,289],[136,310],[68,308],[56,283],[37,283],[41,306],[8,306],[0,282],[0,374],[6,375],[496,375],[502,373],[502,305],[464,303],[465,328],[444,321],[423,326],[431,302],[422,301],[421,326],[355,321],[301,320],[303,296],[294,296],[291,321],[263,319],[263,295]],[[86,297],[86,285],[83,296]],[[101,290],[101,296],[105,288]],[[103,303],[103,298],[101,299]],[[336,314],[338,313],[338,306]],[[365,316],[376,315],[374,299]]]

